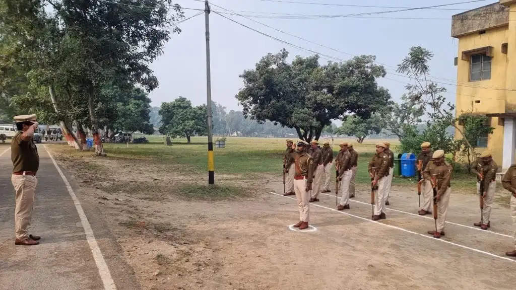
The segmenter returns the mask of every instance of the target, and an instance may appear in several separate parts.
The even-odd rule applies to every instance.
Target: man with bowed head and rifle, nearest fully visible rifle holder
[[[444,150],[434,152],[432,160],[423,170],[424,178],[432,182],[432,187],[437,186],[437,231],[428,231],[434,238],[444,236],[444,225],[451,192],[450,180],[452,170],[451,165],[444,160]]]

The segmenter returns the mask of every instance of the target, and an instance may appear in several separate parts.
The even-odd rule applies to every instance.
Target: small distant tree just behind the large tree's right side
[[[383,121],[380,114],[373,114],[369,119],[362,119],[358,116],[347,116],[342,126],[337,129],[337,134],[354,136],[357,142],[362,144],[365,137],[370,134],[379,134],[383,128]]]

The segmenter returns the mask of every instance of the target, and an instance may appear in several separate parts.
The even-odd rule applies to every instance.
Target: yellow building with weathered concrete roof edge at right
[[[489,117],[493,134],[477,145],[505,171],[516,153],[516,0],[454,15],[451,36],[459,40],[456,114]]]

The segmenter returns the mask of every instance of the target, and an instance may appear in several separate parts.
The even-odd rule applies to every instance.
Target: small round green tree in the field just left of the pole
[[[206,106],[192,107],[191,102],[182,96],[173,102],[162,103],[159,115],[163,122],[159,132],[172,138],[184,135],[189,144],[191,136],[207,133]]]

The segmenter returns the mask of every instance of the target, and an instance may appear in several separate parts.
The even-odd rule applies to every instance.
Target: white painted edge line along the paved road
[[[102,252],[99,248],[99,245],[96,243],[95,236],[93,235],[93,230],[91,229],[90,222],[88,221],[88,218],[84,214],[83,207],[80,205],[79,199],[77,199],[77,196],[75,195],[75,192],[73,192],[72,186],[68,182],[68,180],[65,177],[65,174],[61,171],[59,166],[57,166],[56,160],[54,160],[54,157],[52,154],[50,154],[50,151],[46,149],[46,145],[43,145],[46,152],[49,154],[50,159],[52,159],[52,163],[54,163],[54,166],[57,169],[57,172],[59,172],[59,175],[61,175],[62,180],[65,182],[66,188],[68,189],[68,193],[70,194],[70,197],[72,197],[73,204],[75,205],[75,209],[77,210],[77,214],[80,218],[80,223],[83,224],[84,233],[86,234],[86,240],[88,241],[88,245],[90,246],[91,254],[93,255],[93,260],[95,260],[95,264],[97,268],[99,269],[99,275],[100,279],[102,280],[102,284],[104,284],[105,290],[117,290],[117,286],[115,285],[115,281],[111,278],[111,273],[109,272],[109,268],[107,267],[106,261],[104,261],[104,256],[102,255]]]

